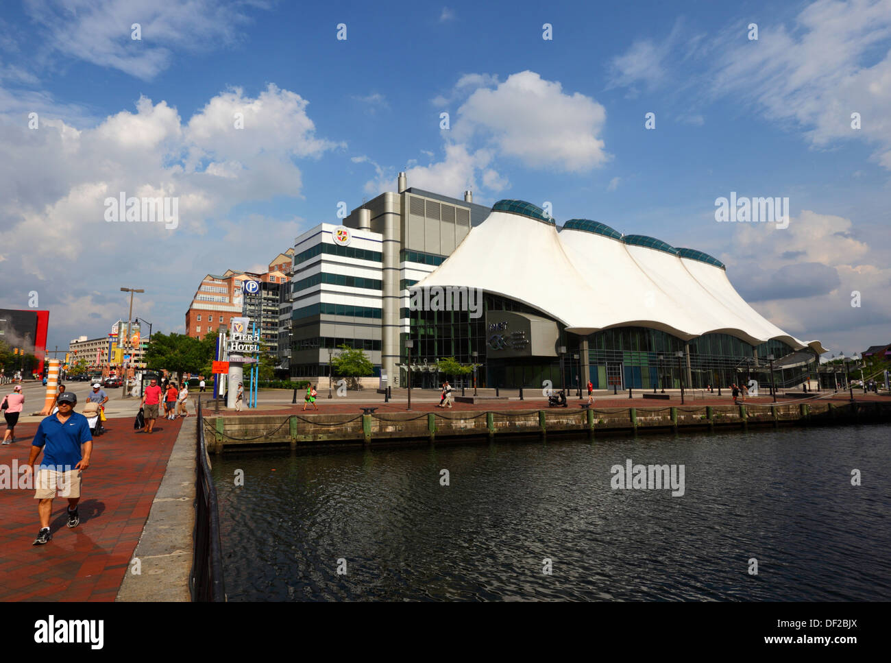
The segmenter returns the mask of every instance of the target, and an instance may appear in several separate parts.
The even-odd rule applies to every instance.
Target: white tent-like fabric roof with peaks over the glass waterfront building
[[[503,202],[541,212],[521,201]],[[504,207],[496,204],[414,287],[478,288],[534,307],[576,334],[642,326],[683,340],[720,332],[752,345],[777,339],[826,352],[819,340],[798,340],[765,320],[733,289],[722,266],[678,255],[651,238],[621,238],[608,226],[601,226],[606,233],[578,224],[558,233],[552,223],[496,209]]]

